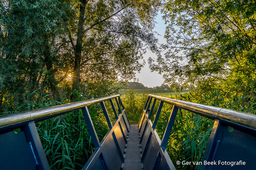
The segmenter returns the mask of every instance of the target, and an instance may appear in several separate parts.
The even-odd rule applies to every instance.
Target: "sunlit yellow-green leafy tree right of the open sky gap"
[[[165,56],[150,68],[172,86],[256,88],[256,3],[248,0],[174,0],[162,9],[168,23]]]

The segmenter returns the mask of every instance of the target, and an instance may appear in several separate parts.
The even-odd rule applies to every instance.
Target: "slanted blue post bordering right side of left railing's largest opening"
[[[100,141],[97,136],[96,130],[94,129],[94,125],[91,121],[91,116],[89,114],[88,108],[87,108],[87,106],[85,106],[81,110],[82,110],[82,114],[85,118],[85,122],[87,124],[88,130],[91,134],[91,139],[93,141],[94,147],[95,147],[95,149],[98,149],[98,148],[100,148]]]

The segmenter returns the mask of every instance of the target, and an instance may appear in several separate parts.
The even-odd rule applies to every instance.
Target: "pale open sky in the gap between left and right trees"
[[[158,14],[156,17],[156,25],[154,31],[156,31],[160,35],[156,35],[156,38],[159,39],[159,43],[166,43],[164,35],[165,35],[165,21],[162,19],[163,14]],[[146,64],[143,68],[141,68],[140,73],[136,72],[135,77],[138,79],[138,82],[142,83],[147,87],[160,86],[164,82],[162,75],[158,74],[158,72],[150,71],[147,59],[149,57],[156,58],[156,54],[153,54],[150,50],[147,50],[147,53],[144,54],[144,60]],[[131,80],[132,81],[132,80]]]

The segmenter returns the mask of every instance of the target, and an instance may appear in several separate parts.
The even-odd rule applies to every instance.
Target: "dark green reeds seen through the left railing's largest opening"
[[[39,122],[37,130],[51,169],[81,169],[94,151],[80,112]]]

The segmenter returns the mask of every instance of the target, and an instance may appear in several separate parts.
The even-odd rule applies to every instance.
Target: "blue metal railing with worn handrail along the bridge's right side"
[[[152,100],[153,103],[150,108]],[[152,124],[150,117],[152,116],[156,100],[160,100],[160,103]],[[174,106],[163,138],[160,140],[155,128],[164,102]],[[175,169],[165,148],[179,108],[208,117],[215,121],[204,152],[203,160],[201,163],[198,162],[201,164],[201,170],[231,168],[239,170],[255,169],[256,115],[151,94],[148,95],[147,102],[138,123],[141,136],[141,162],[144,163],[144,169]],[[232,127],[233,130],[229,130],[230,127]],[[180,160],[180,163],[182,163],[182,160]],[[234,163],[236,164],[231,166],[231,164]]]

